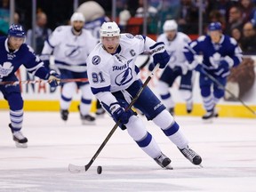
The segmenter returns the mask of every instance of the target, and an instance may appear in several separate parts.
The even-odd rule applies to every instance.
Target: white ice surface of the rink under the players
[[[199,116],[176,116],[190,147],[203,157],[200,168],[142,116],[173,170],[160,168],[117,129],[87,172],[71,173],[68,164],[88,164],[107,137],[114,126],[108,116],[82,125],[78,113],[70,113],[64,123],[57,112],[25,112],[22,132],[28,148],[15,147],[8,111],[0,116],[1,192],[256,191],[255,119],[220,117],[204,124]]]

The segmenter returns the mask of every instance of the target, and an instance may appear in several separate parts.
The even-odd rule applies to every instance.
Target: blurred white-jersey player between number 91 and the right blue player
[[[180,96],[186,101],[187,112],[190,113],[193,107],[192,100],[192,79],[193,70],[188,70],[188,61],[183,53],[183,48],[191,40],[181,32],[178,32],[178,25],[175,20],[165,20],[164,33],[158,36],[156,42],[164,42],[166,51],[171,56],[166,68],[156,84],[157,92],[160,94],[164,106],[174,115],[175,103],[172,100],[172,87],[175,79],[180,76]],[[149,65],[149,70],[154,67],[154,63]]]

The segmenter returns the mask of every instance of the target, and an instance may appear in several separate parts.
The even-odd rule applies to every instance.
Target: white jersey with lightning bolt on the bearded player
[[[42,55],[53,54],[57,68],[84,72],[86,59],[97,43],[92,33],[84,28],[80,36],[75,36],[72,26],[60,26],[45,42]]]

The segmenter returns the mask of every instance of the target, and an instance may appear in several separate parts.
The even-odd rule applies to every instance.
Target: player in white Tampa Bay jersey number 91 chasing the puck
[[[127,129],[132,139],[148,156],[161,167],[172,169],[170,158],[162,153],[140,117],[132,109],[124,110],[142,86],[140,70],[134,63],[136,58],[144,51],[152,52],[154,62],[164,68],[170,60],[164,43],[156,43],[148,36],[120,34],[116,22],[102,24],[100,41],[87,58],[88,78],[93,94],[113,119],[120,121],[121,129]],[[188,140],[181,133],[179,124],[148,86],[141,92],[134,107],[160,127],[191,163],[201,164],[202,158],[188,148]]]

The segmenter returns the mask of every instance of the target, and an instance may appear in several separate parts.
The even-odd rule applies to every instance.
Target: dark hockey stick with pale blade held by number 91
[[[148,78],[146,79],[146,81],[144,82],[144,84],[142,84],[142,86],[140,87],[140,90],[137,92],[137,94],[135,95],[135,97],[132,99],[132,102],[129,104],[128,108],[125,108],[125,111],[129,110],[130,108],[132,108],[133,104],[136,102],[136,100],[138,100],[138,98],[140,97],[141,92],[144,90],[144,88],[148,85],[148,82],[150,81],[150,79],[152,78],[152,76],[154,75],[154,73],[156,72],[156,69],[159,68],[159,64],[156,65],[156,67],[154,68],[153,71],[151,71],[150,75],[148,76]],[[116,131],[116,128],[118,127],[118,124],[120,123],[120,121],[118,121],[114,127],[112,128],[112,130],[108,133],[108,136],[106,137],[105,140],[103,140],[102,144],[100,145],[100,148],[98,148],[98,150],[96,151],[96,153],[94,154],[94,156],[92,156],[92,159],[90,160],[90,162],[88,164],[85,164],[83,166],[79,166],[79,165],[75,165],[75,164],[68,164],[68,171],[69,172],[82,172],[83,170],[86,172],[92,165],[92,163],[95,161],[95,159],[97,158],[97,156],[99,156],[100,151],[102,150],[102,148],[105,147],[105,145],[107,144],[108,140],[111,138],[111,136],[113,135],[113,133]]]

